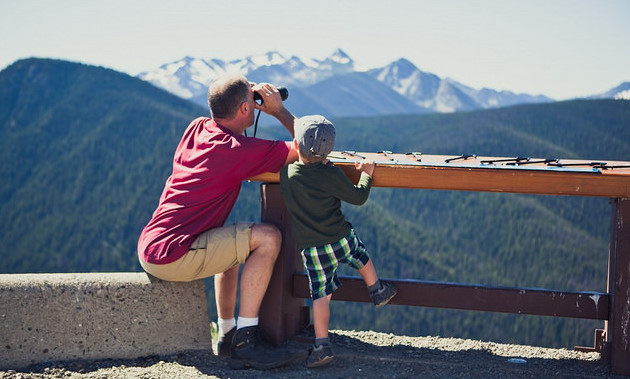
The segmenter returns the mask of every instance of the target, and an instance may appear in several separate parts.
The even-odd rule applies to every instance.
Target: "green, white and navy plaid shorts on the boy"
[[[302,249],[300,255],[308,272],[313,300],[326,297],[339,288],[341,283],[337,277],[337,268],[340,263],[359,270],[370,260],[363,242],[357,237],[354,229],[335,243]]]

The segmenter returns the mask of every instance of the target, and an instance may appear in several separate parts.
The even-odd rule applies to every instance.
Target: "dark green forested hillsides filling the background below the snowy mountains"
[[[29,59],[0,72],[0,272],[140,270],[138,234],[173,151],[207,113],[99,67]],[[628,101],[333,122],[337,150],[630,160]],[[259,219],[258,186],[244,184],[231,220]],[[607,199],[375,188],[344,209],[384,278],[606,290]],[[572,347],[602,323],[334,303],[331,324]]]

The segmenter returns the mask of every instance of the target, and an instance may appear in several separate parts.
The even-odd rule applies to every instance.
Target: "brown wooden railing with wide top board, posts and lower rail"
[[[593,349],[614,373],[630,374],[630,162],[551,160],[476,156],[425,156],[333,152],[331,161],[351,180],[354,162],[376,163],[373,186],[437,190],[599,196],[611,199],[607,292],[493,287],[397,280],[392,304],[605,320]],[[275,343],[295,336],[309,323],[309,297],[297,243],[279,188],[278,174],[261,181],[262,221],[283,232],[283,245],[260,312],[265,335]],[[369,302],[360,278],[341,278],[333,300]]]

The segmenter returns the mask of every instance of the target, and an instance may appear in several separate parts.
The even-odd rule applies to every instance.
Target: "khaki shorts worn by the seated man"
[[[158,265],[143,262],[144,270],[163,280],[189,282],[207,278],[245,263],[253,223],[238,223],[201,233],[188,253],[175,262]]]

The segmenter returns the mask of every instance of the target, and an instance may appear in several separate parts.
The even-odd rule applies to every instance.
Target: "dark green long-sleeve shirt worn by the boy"
[[[298,238],[304,249],[339,241],[350,233],[350,224],[341,212],[341,201],[365,203],[372,178],[361,173],[355,186],[346,174],[321,162],[292,163],[280,171],[280,188]]]

